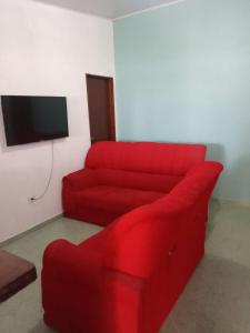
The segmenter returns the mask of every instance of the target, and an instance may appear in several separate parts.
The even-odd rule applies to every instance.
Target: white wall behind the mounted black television
[[[7,148],[0,110],[0,242],[62,212],[61,178],[89,148],[84,74],[113,77],[112,23],[28,0],[0,1],[0,94],[67,95],[70,137]]]

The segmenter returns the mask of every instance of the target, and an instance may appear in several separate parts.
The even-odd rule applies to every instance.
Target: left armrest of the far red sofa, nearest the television
[[[62,183],[63,188],[67,186],[71,190],[81,190],[98,184],[98,179],[94,170],[82,169],[63,176]]]

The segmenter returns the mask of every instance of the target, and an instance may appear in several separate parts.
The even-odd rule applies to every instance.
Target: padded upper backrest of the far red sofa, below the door
[[[204,155],[202,144],[103,141],[90,148],[86,168],[183,176]]]

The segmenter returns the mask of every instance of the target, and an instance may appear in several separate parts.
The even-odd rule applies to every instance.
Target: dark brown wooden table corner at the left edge
[[[36,279],[37,270],[31,262],[0,250],[0,302],[8,300]]]

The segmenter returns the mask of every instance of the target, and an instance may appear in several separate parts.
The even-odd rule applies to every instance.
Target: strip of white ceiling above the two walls
[[[98,17],[116,19],[137,11],[176,2],[178,0],[33,0],[81,11]]]

